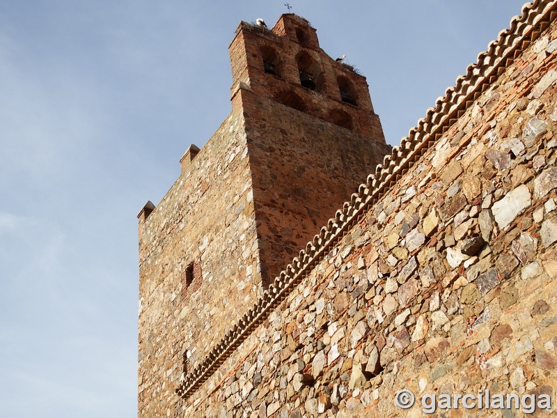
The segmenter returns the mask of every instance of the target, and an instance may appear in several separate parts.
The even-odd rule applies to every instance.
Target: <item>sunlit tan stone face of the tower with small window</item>
[[[195,366],[260,287],[244,119],[231,114],[140,220],[139,417],[166,416],[182,355]],[[182,295],[187,265],[203,280]],[[164,411],[164,412],[163,412]]]

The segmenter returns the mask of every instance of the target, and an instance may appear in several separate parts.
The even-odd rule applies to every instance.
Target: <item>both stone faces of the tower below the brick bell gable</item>
[[[198,365],[389,150],[237,91],[232,114],[140,219],[140,417],[173,408],[167,381]],[[182,294],[192,261],[201,287]]]

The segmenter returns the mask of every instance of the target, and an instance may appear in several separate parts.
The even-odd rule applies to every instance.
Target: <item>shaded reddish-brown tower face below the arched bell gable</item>
[[[242,109],[266,288],[390,147],[248,91]]]

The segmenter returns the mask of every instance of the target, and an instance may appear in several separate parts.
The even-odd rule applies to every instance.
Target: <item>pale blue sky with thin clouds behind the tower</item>
[[[228,115],[240,20],[283,3],[0,0],[0,417],[136,416],[136,214]],[[522,1],[290,5],[394,145]]]

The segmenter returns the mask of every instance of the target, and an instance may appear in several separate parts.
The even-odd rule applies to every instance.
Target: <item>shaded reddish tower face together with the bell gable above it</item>
[[[272,281],[375,171],[386,145],[366,77],[331,59],[307,20],[240,23],[230,44],[253,173],[262,281]]]

